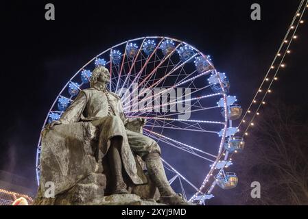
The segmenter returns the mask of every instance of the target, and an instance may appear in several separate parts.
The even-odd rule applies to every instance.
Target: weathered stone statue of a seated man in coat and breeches
[[[60,120],[47,125],[47,129],[60,124],[91,122],[99,130],[97,148],[102,151],[103,156],[108,153],[108,165],[115,182],[112,194],[128,193],[122,171],[127,173],[132,183],[143,183],[137,175],[136,160],[132,154],[135,153],[145,162],[149,177],[161,194],[160,202],[167,205],[187,205],[167,181],[158,144],[152,138],[126,128],[127,123],[134,122],[143,126],[146,121],[141,118],[126,118],[120,96],[107,90],[107,83],[110,83],[108,69],[97,66],[90,78],[91,88],[81,90]]]

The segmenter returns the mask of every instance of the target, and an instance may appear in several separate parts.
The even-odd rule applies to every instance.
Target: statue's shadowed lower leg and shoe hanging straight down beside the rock
[[[122,161],[121,161],[122,138],[116,136],[110,139],[110,148],[108,150],[108,162],[110,164],[111,176],[114,179],[115,187],[112,194],[128,193],[127,185],[123,181]]]

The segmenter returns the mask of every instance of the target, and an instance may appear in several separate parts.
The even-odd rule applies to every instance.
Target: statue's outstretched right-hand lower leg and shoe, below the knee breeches
[[[189,205],[181,194],[176,194],[169,185],[167,180],[161,156],[158,153],[150,153],[145,157],[145,164],[150,179],[155,183],[158,188],[161,198],[160,203],[167,205]]]

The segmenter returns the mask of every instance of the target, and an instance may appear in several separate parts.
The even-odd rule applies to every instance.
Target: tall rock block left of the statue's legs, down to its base
[[[91,123],[57,125],[43,131],[40,188],[36,205],[83,205],[104,196],[106,176],[102,154],[95,151],[96,128]],[[55,186],[55,198],[45,198],[45,183]]]

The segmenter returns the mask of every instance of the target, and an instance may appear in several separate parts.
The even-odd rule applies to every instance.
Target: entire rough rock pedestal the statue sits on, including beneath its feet
[[[127,181],[133,194],[108,195],[110,171],[97,150],[97,130],[91,123],[57,125],[42,135],[40,186],[34,205],[157,205],[159,192],[142,170],[139,174],[147,177],[147,184]],[[137,162],[145,166],[140,159]],[[54,183],[51,198],[47,198],[48,182]]]

